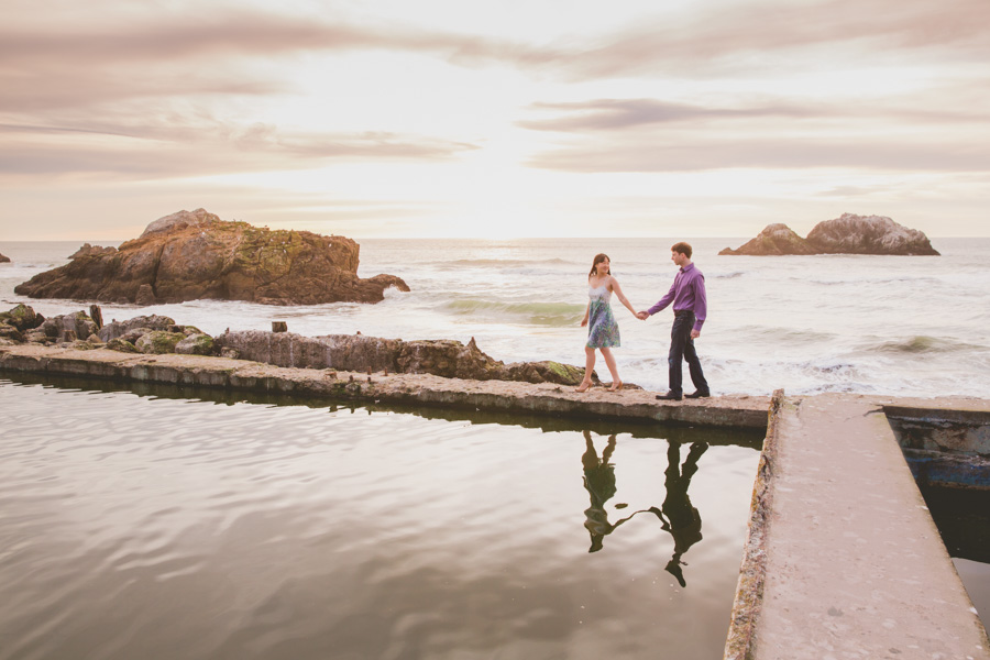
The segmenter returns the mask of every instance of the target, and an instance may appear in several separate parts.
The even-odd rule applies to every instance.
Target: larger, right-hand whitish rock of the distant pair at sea
[[[843,213],[816,224],[807,242],[829,254],[938,255],[924,232],[884,216]]]

